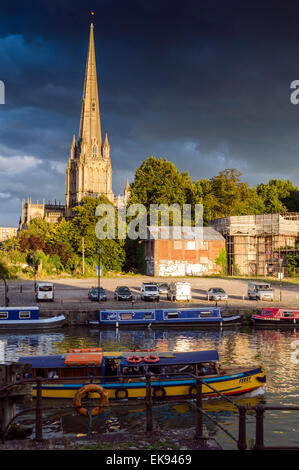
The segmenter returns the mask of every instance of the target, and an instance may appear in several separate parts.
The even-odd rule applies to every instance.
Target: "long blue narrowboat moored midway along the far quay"
[[[221,309],[172,308],[172,309],[128,309],[100,310],[98,320],[89,322],[102,327],[168,327],[202,326],[225,327],[242,323],[240,315],[222,315]]]

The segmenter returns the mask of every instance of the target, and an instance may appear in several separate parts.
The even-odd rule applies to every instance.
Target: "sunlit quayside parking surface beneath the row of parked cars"
[[[228,307],[247,306],[257,308],[260,306],[274,306],[281,305],[285,307],[298,307],[299,308],[299,285],[297,284],[279,284],[273,285],[274,287],[274,302],[257,302],[248,300],[247,298],[247,279],[220,279],[220,278],[154,278],[149,276],[132,276],[132,277],[103,277],[100,279],[101,287],[107,292],[108,301],[102,302],[104,308],[128,308],[132,306],[131,302],[117,302],[114,300],[114,290],[117,286],[128,286],[135,297],[135,307],[147,306],[151,307],[151,302],[142,302],[140,300],[140,286],[142,282],[172,282],[177,280],[184,280],[191,284],[192,288],[192,304],[198,305],[215,305],[215,302],[208,302],[207,290],[210,287],[222,287],[229,298],[228,301],[218,302],[218,305]],[[38,282],[38,281],[37,281]],[[91,308],[96,309],[97,302],[92,302],[88,299],[88,290],[92,286],[98,285],[97,278],[90,279],[57,279],[51,280],[55,285],[55,301],[49,303],[40,303],[40,306],[47,306],[49,309],[62,309],[64,308]],[[34,297],[34,281],[20,281],[13,280],[8,282],[9,291],[9,305],[23,305],[29,306],[36,303]],[[281,301],[280,301],[281,295]],[[166,300],[166,296],[161,296],[163,306],[171,302]],[[185,307],[191,306],[191,303],[177,303],[177,305],[184,305]],[[4,285],[0,285],[0,305],[4,305]],[[89,306],[89,307],[88,307]],[[44,308],[44,307],[43,307]]]

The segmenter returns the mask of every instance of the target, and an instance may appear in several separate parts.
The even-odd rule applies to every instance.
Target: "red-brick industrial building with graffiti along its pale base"
[[[225,248],[224,237],[212,227],[202,228],[202,239],[182,227],[149,227],[146,274],[201,276],[221,272],[215,260]]]

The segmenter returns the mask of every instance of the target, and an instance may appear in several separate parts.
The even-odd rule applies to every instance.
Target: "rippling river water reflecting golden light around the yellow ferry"
[[[298,341],[298,345],[296,343]],[[299,353],[299,331],[231,328],[220,330],[104,330],[89,327],[68,327],[51,333],[1,334],[0,362],[16,361],[23,355],[60,354],[69,348],[102,347],[104,350],[155,348],[160,351],[195,351],[217,349],[224,366],[264,364],[267,382],[263,395],[239,398],[240,404],[255,406],[299,405],[299,373],[296,347]],[[299,357],[299,354],[298,354]],[[59,401],[59,400],[55,400]],[[69,403],[66,405],[68,406]],[[51,405],[50,405],[51,406]],[[154,425],[159,429],[191,427],[195,423],[194,402],[165,404],[154,408]],[[238,435],[238,414],[220,399],[205,400],[204,409],[234,437]],[[29,424],[32,417],[22,418]],[[236,443],[209,420],[205,420],[210,435],[225,449],[236,449]],[[74,410],[65,409],[45,424],[44,437],[84,435],[87,420]],[[129,409],[107,409],[93,420],[93,432],[138,432],[145,428],[142,405]],[[267,411],[264,421],[265,445],[299,446],[299,412]],[[255,417],[248,414],[247,441],[254,442]],[[34,436],[33,436],[34,437]]]

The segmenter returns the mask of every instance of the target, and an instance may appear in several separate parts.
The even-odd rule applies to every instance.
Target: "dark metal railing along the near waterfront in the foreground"
[[[173,374],[175,375],[175,374]],[[140,375],[134,375],[130,376],[130,378],[137,378],[141,377]],[[143,376],[144,377],[144,376]],[[203,418],[206,417],[207,419],[211,420],[219,429],[221,429],[230,439],[232,439],[238,450],[246,450],[247,449],[247,437],[246,437],[246,419],[247,419],[247,411],[254,411],[255,410],[255,417],[256,417],[256,433],[255,433],[255,445],[253,446],[253,450],[273,450],[273,449],[284,449],[284,450],[289,450],[289,449],[299,449],[299,446],[293,446],[293,447],[287,447],[287,446],[281,446],[281,447],[266,447],[264,445],[264,413],[267,410],[282,410],[282,411],[287,411],[287,410],[295,410],[299,411],[299,406],[264,406],[264,405],[257,405],[255,407],[247,407],[243,405],[239,405],[236,403],[234,400],[232,400],[230,397],[224,395],[223,393],[219,392],[216,390],[212,385],[207,383],[204,379],[201,379],[193,374],[186,374],[184,377],[188,377],[191,379],[194,379],[196,382],[196,395],[194,394],[193,398],[196,400],[196,416],[195,416],[195,434],[194,434],[194,439],[197,441],[201,441],[202,444],[207,441],[207,436],[204,435],[204,423],[203,423]],[[79,383],[82,383],[82,386],[87,384],[87,383],[93,383],[97,382],[100,383],[100,380],[103,379],[104,377],[91,377],[89,380],[88,379],[82,379],[82,377],[72,377],[72,378],[64,378],[64,381],[78,381]],[[117,379],[127,379],[127,376],[117,376]],[[160,378],[159,375],[155,376],[155,380],[152,381],[153,376],[151,374],[146,374],[145,379],[146,379],[146,396],[144,399],[145,402],[145,407],[146,407],[146,432],[153,432],[154,425],[153,425],[153,406],[156,404],[161,404],[167,402],[167,398],[164,400],[157,400],[153,398],[152,394],[152,389],[153,385],[152,384],[158,384]],[[0,393],[3,394],[5,390],[14,387],[14,386],[20,386],[22,384],[28,385],[28,384],[36,384],[36,403],[34,408],[27,408],[22,410],[21,412],[17,413],[7,424],[5,431],[3,432],[1,438],[2,441],[6,439],[7,433],[9,431],[9,428],[13,421],[19,417],[22,414],[28,413],[29,411],[35,411],[35,440],[37,442],[43,441],[43,411],[48,411],[48,410],[54,410],[54,407],[51,408],[43,408],[42,406],[42,386],[43,383],[57,383],[61,382],[61,379],[44,379],[37,377],[35,379],[24,379],[22,381],[18,381],[15,384],[8,385],[6,387],[3,387],[0,389]],[[123,382],[125,385],[126,382]],[[213,394],[218,395],[221,397],[223,400],[226,400],[229,402],[231,405],[233,405],[236,410],[238,411],[239,418],[238,418],[238,436],[235,437],[233,436],[227,429],[225,429],[220,423],[217,422],[217,420],[210,416],[206,411],[203,409],[203,393],[202,393],[202,387],[203,385],[205,387],[208,387]],[[190,397],[188,398],[190,400]],[[178,400],[182,402],[182,399]],[[174,400],[171,401],[174,403]],[[140,401],[139,401],[140,403]],[[111,403],[109,402],[108,405],[105,405],[106,407],[113,407],[113,406],[130,406],[131,403],[127,402],[115,402]],[[94,404],[92,405],[94,406]],[[74,407],[72,407],[73,409]],[[65,409],[65,407],[64,407]],[[57,408],[56,408],[57,411]]]

